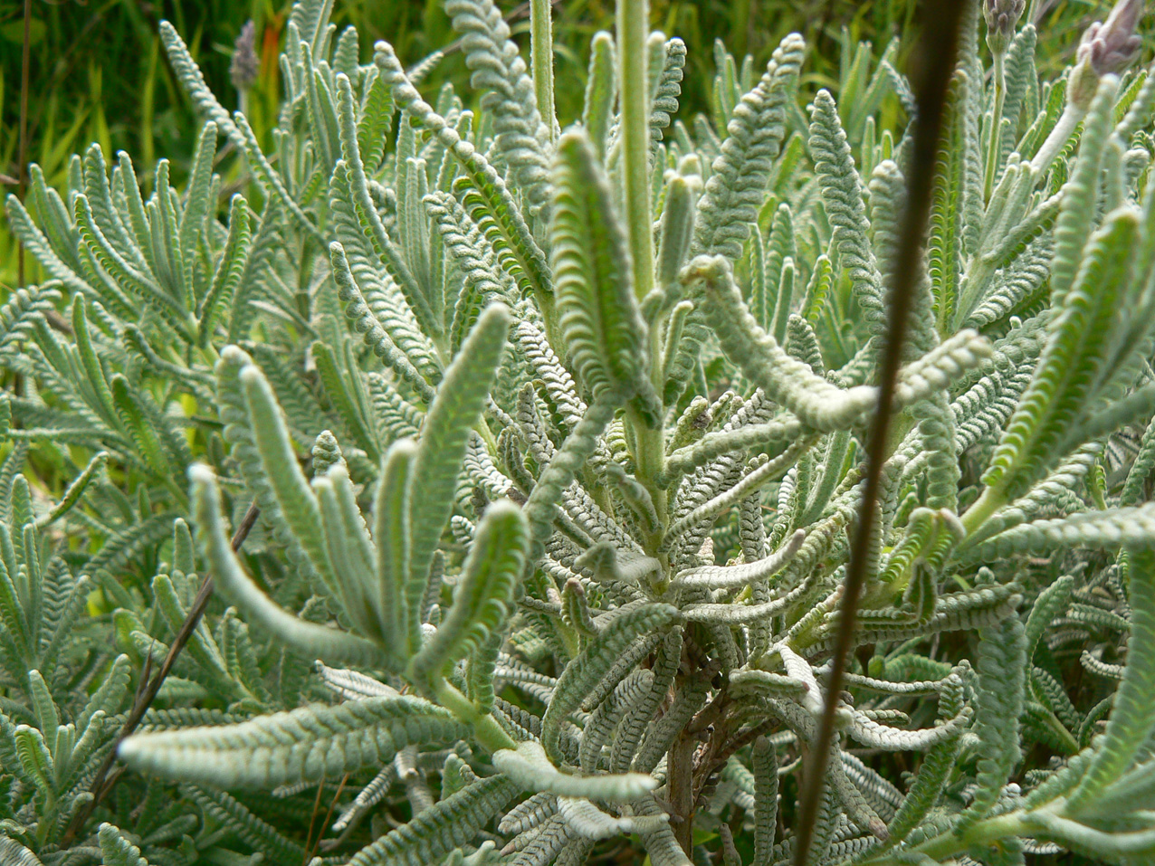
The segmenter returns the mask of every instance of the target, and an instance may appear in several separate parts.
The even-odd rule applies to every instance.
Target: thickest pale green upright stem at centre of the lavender
[[[649,172],[649,84],[647,66],[649,53],[649,5],[647,0],[618,0],[618,81],[620,82],[621,159],[625,181],[626,224],[629,231],[629,253],[633,263],[634,294],[639,300],[654,289],[654,227],[650,215]],[[662,344],[658,330],[649,335],[650,373],[658,394],[662,393]],[[627,415],[638,443],[635,460],[638,480],[649,491],[657,509],[658,521],[665,523],[665,491],[657,484],[665,462],[665,434],[662,425],[650,428],[636,412]],[[651,544],[653,543],[653,544]],[[654,553],[660,533],[647,539]]]

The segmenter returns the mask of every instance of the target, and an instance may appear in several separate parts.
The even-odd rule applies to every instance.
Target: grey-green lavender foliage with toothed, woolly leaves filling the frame
[[[685,46],[619,0],[561,128],[550,5],[528,62],[446,9],[472,107],[301,0],[263,150],[163,24],[188,188],[94,145],[9,197],[52,279],[0,311],[5,861],[1148,863],[1143,5],[1044,82],[1023,3],[967,1],[878,498],[893,51],[836,100],[797,35],[720,50],[676,121]]]

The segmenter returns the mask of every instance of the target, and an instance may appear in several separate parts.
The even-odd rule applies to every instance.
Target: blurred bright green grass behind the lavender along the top
[[[1043,54],[1055,67],[1070,58],[1086,24],[1106,15],[1108,0],[1041,0]],[[528,43],[528,3],[501,2],[516,38]],[[276,57],[284,39],[285,0],[31,0],[29,160],[49,181],[64,186],[68,157],[99,142],[106,155],[127,150],[140,166],[167,157],[179,181],[198,126],[157,38],[161,18],[171,21],[226,107],[237,105],[229,81],[233,40],[245,21],[256,24],[261,73],[249,95],[254,129],[267,143],[280,97]],[[651,0],[653,23],[680,36],[690,50],[683,115],[707,110],[713,46],[722,39],[738,58],[765,64],[791,30],[810,45],[805,67],[811,90],[837,81],[840,46],[870,39],[881,47],[897,36],[900,60],[914,38],[915,0]],[[412,64],[438,48],[445,61],[425,85],[452,80],[468,92],[467,74],[439,0],[336,0],[334,22],[357,27],[363,59],[375,39],[392,42]],[[561,0],[554,5],[558,111],[562,124],[580,112],[590,36],[612,29],[612,0]],[[16,192],[24,0],[0,0],[0,192]],[[146,179],[147,182],[147,179]],[[25,282],[40,275],[27,261]],[[0,301],[17,284],[16,245],[0,218]]]

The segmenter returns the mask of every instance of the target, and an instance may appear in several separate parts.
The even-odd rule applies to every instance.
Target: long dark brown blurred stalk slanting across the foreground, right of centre
[[[818,820],[818,805],[826,777],[830,745],[834,740],[834,716],[842,692],[847,671],[847,659],[854,641],[858,597],[866,577],[870,558],[870,539],[874,522],[874,503],[878,501],[886,461],[886,441],[894,405],[894,388],[902,361],[910,307],[915,285],[922,268],[922,247],[930,214],[931,193],[938,162],[939,133],[946,105],[947,84],[954,69],[959,42],[959,25],[966,3],[959,0],[927,2],[923,9],[924,30],[922,37],[923,76],[918,88],[918,117],[915,119],[912,148],[910,154],[910,178],[907,203],[902,215],[902,233],[894,257],[894,281],[891,292],[887,321],[886,346],[879,376],[878,410],[871,423],[866,445],[866,479],[859,517],[850,540],[850,559],[843,585],[842,605],[839,615],[839,633],[834,644],[830,677],[827,680],[826,702],[819,725],[818,740],[811,749],[803,776],[802,806],[798,834],[795,844],[796,866],[806,866],[810,846]]]

